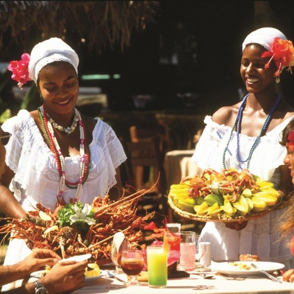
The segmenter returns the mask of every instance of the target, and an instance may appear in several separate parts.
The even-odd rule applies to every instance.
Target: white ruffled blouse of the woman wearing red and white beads
[[[15,173],[12,180],[14,196],[26,209],[40,202],[54,209],[59,192],[60,176],[53,152],[26,110],[7,120],[2,129],[12,134],[6,145],[6,165]],[[115,169],[126,159],[123,147],[113,129],[97,120],[93,140],[89,145],[91,167],[83,184],[80,200],[91,203],[97,196],[104,197],[109,188],[116,184]],[[79,176],[79,156],[65,157],[66,178],[75,182]],[[66,203],[74,198],[75,189],[64,193]]]

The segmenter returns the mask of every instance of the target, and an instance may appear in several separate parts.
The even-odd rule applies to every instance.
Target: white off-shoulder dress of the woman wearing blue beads
[[[283,165],[283,159],[287,153],[286,148],[279,144],[281,132],[293,118],[294,116],[286,119],[261,137],[249,165],[250,172],[270,180],[276,187],[280,182],[278,167]],[[223,151],[232,129],[213,122],[211,116],[206,116],[204,123],[206,126],[191,160],[201,169],[212,168],[221,172]],[[240,134],[240,155],[243,160],[248,157],[255,139],[256,137]],[[225,154],[226,168],[234,167],[240,170],[240,163],[236,160],[236,148],[237,133],[233,132],[228,146],[230,152]],[[241,167],[246,168],[246,163]],[[280,209],[259,219],[248,221],[247,226],[241,231],[226,228],[221,222],[207,222],[201,235],[211,243],[212,258],[215,260],[238,260],[240,254],[249,253],[259,255],[263,261],[282,262],[286,269],[294,268],[294,257],[288,244],[291,236],[279,241],[280,235],[277,232],[277,224],[283,213],[284,210]]]

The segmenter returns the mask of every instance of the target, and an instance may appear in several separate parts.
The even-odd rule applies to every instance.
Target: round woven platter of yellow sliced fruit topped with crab
[[[273,183],[233,168],[187,176],[172,184],[168,194],[174,212],[195,221],[248,221],[276,209],[280,202]]]

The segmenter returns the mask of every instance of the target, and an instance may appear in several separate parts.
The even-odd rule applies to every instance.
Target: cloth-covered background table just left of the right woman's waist
[[[195,149],[172,150],[165,154],[164,169],[167,179],[167,188],[172,184],[178,184],[187,175],[195,175],[200,169],[191,161]]]

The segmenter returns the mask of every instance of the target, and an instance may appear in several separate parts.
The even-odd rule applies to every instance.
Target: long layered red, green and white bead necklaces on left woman
[[[90,150],[87,144],[85,123],[82,119],[80,112],[77,109],[74,109],[75,114],[77,115],[77,118],[78,118],[78,125],[79,125],[79,132],[80,132],[80,171],[79,171],[78,181],[70,182],[65,177],[65,159],[61,152],[59,144],[57,142],[56,136],[54,134],[52,124],[48,120],[48,114],[46,112],[44,105],[39,107],[38,111],[39,111],[39,116],[42,122],[45,136],[49,142],[51,149],[53,150],[57,169],[60,175],[60,181],[59,181],[60,190],[57,195],[57,198],[60,202],[64,202],[63,195],[64,195],[66,187],[69,187],[71,189],[76,189],[75,196],[73,198],[73,202],[76,202],[79,199],[81,187],[87,180],[89,170],[90,170]]]

